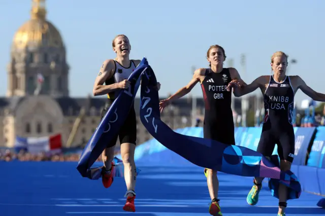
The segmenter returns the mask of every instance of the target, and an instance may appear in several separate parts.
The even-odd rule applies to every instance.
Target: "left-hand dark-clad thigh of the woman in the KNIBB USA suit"
[[[275,137],[271,130],[262,130],[256,152],[271,157],[275,147]]]

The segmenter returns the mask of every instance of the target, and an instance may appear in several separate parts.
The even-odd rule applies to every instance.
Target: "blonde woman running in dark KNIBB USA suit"
[[[251,84],[238,88],[239,96],[261,89],[264,95],[265,118],[257,152],[266,157],[273,153],[275,144],[278,146],[280,168],[289,170],[295,157],[295,133],[292,125],[294,97],[298,89],[316,101],[325,101],[325,94],[315,92],[299,76],[286,76],[287,55],[276,52],[271,57],[274,75],[261,76]],[[254,178],[254,186],[247,196],[247,202],[255,205],[258,193],[262,188],[263,178]],[[287,191],[284,185],[279,186],[278,215],[284,216]]]

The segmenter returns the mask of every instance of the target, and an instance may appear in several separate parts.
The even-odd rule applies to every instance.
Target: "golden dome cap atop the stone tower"
[[[45,0],[32,0],[31,19],[15,33],[13,46],[62,47],[60,32],[46,19]]]

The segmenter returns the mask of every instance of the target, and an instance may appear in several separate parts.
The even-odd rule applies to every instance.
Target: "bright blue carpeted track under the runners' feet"
[[[209,193],[203,168],[142,166],[137,181],[136,213],[124,212],[125,183],[115,178],[111,188],[80,176],[73,162],[0,162],[0,215],[210,215]],[[223,215],[277,215],[278,200],[267,184],[257,206],[246,196],[250,177],[219,173]],[[316,206],[320,196],[303,193],[288,201],[287,215],[324,215]]]

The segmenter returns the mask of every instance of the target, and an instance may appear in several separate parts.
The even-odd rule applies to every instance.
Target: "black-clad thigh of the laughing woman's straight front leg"
[[[137,143],[137,119],[136,119],[136,112],[132,108],[122,125],[119,131],[119,139],[120,143],[133,143],[136,145]]]

